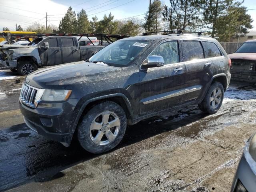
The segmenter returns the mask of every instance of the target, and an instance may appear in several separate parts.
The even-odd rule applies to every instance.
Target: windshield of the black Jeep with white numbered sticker
[[[119,40],[92,56],[90,62],[104,62],[110,66],[128,66],[138,54],[146,49],[148,41]]]

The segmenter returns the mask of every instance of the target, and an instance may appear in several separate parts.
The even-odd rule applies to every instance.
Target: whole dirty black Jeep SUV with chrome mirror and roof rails
[[[217,40],[171,34],[118,40],[87,60],[29,74],[20,110],[32,130],[92,153],[114,148],[126,126],[198,104],[218,111],[230,60]]]

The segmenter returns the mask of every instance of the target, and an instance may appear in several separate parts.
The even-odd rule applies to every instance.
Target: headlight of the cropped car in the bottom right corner
[[[246,142],[244,157],[256,175],[256,134],[252,135],[248,142]]]

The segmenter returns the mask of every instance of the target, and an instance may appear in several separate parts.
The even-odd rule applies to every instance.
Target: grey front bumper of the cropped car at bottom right
[[[235,192],[236,186],[238,184],[238,180],[242,183],[242,185],[246,188],[248,192],[254,192],[256,189],[256,175],[250,168],[250,165],[246,161],[244,157],[244,153],[240,159],[238,164],[236,174],[233,179],[231,192]]]

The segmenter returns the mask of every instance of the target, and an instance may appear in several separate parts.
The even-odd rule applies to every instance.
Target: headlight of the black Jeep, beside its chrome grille
[[[42,95],[43,101],[66,101],[72,90],[54,90],[46,89]]]

